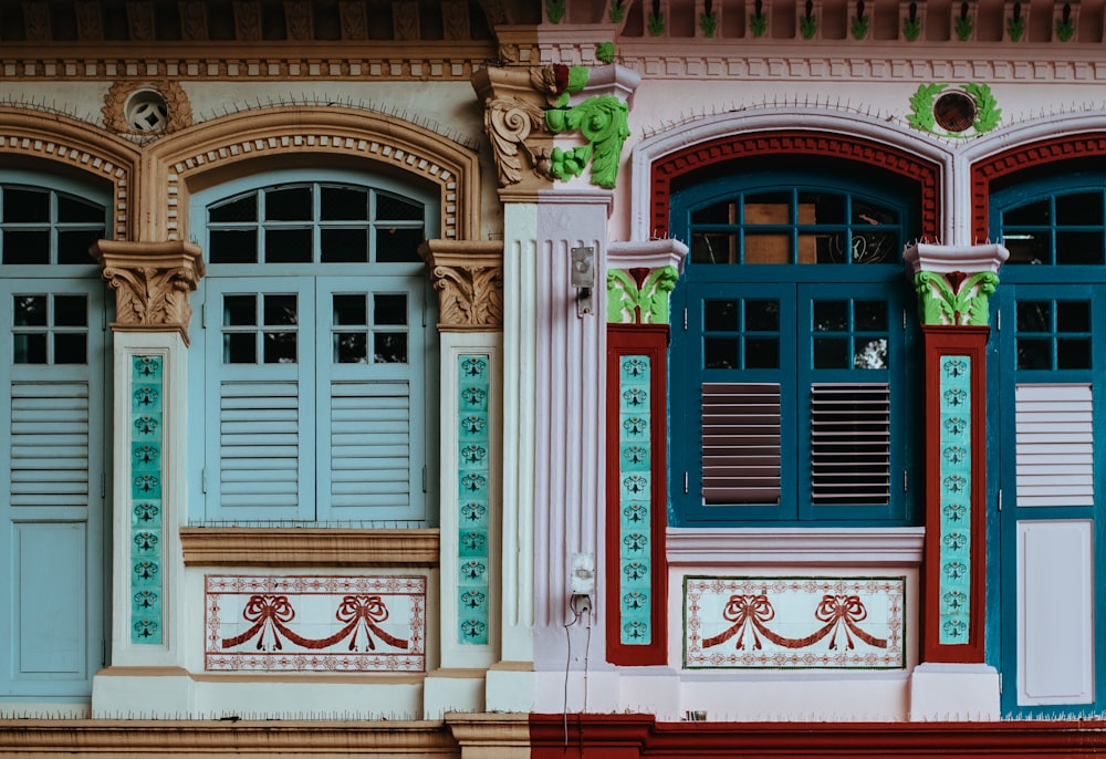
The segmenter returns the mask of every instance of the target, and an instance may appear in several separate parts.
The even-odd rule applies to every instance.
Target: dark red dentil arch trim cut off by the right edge
[[[972,232],[974,240],[988,239],[991,183],[995,179],[1062,160],[1106,156],[1106,136],[1100,133],[1065,135],[1003,150],[972,166]]]

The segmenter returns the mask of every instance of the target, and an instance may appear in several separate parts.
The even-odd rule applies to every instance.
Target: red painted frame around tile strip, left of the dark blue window
[[[619,358],[624,355],[646,355],[650,361],[649,387],[649,476],[651,490],[649,590],[651,642],[645,645],[622,643],[619,630],[620,597],[619,543],[620,506],[618,482],[618,388]],[[667,657],[668,564],[665,558],[665,528],[668,523],[668,325],[667,324],[611,324],[607,326],[607,518],[606,518],[606,579],[607,592],[604,606],[607,634],[607,661],[624,666],[664,664]]]

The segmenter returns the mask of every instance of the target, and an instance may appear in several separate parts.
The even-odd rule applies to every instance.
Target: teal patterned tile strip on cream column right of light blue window
[[[470,645],[488,643],[489,429],[488,394],[491,361],[488,355],[460,355],[457,398],[458,481],[458,640]]]

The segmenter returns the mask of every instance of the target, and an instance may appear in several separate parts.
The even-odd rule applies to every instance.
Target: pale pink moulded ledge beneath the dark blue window
[[[668,528],[671,565],[921,564],[926,528]]]

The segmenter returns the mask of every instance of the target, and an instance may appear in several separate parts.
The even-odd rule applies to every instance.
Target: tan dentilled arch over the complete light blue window
[[[480,177],[474,150],[399,118],[349,107],[289,106],[205,122],[149,150],[144,185],[148,239],[186,240],[192,191],[241,176],[300,165],[356,167],[438,188],[441,237],[470,239],[479,228]]]

